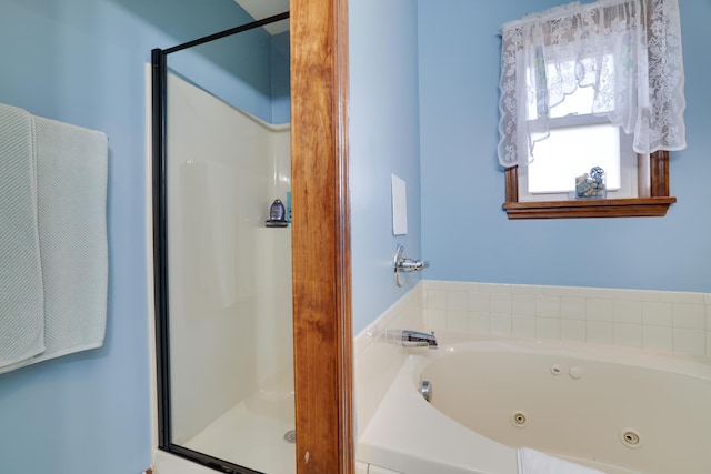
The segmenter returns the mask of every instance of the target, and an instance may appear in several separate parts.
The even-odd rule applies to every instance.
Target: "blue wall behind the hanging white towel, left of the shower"
[[[1,473],[149,467],[144,64],[246,18],[232,0],[2,2],[0,102],[109,137],[110,282],[103,347],[0,375]]]

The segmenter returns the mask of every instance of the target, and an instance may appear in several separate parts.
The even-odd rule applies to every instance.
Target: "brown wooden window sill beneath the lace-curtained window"
[[[673,196],[504,202],[509,219],[661,218]]]

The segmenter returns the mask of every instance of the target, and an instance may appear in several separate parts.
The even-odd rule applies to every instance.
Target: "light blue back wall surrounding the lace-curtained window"
[[[665,218],[510,221],[497,162],[499,27],[558,0],[420,0],[422,246],[437,280],[711,291],[711,3],[680,1],[689,147]],[[585,262],[604,258],[591,269]]]

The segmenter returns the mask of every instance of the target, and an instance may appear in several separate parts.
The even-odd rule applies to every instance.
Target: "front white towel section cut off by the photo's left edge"
[[[44,350],[31,115],[0,104],[0,373]]]

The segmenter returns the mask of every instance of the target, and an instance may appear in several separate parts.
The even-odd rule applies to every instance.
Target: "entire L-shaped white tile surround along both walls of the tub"
[[[364,427],[408,351],[387,330],[457,330],[711,356],[711,293],[423,280],[356,336]]]

